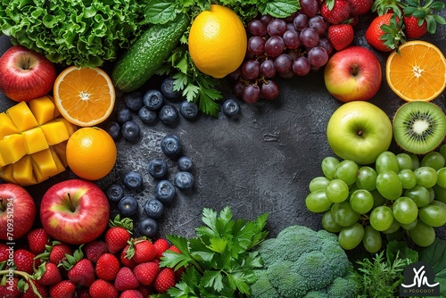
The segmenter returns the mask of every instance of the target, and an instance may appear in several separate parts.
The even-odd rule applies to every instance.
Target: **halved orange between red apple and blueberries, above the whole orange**
[[[110,116],[116,99],[107,73],[70,66],[54,82],[54,102],[62,116],[80,127],[92,127]]]

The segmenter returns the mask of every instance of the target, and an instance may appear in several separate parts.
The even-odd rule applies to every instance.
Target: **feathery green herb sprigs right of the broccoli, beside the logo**
[[[361,285],[359,298],[398,297],[404,269],[418,261],[418,253],[405,242],[392,240],[373,258],[357,261],[356,277]]]

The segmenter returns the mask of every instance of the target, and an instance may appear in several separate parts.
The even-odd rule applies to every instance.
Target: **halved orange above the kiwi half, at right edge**
[[[422,40],[411,40],[387,58],[389,87],[407,102],[429,102],[446,87],[446,59],[440,49]]]

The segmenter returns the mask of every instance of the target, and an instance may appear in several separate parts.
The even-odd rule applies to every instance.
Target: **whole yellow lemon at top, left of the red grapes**
[[[211,4],[210,11],[200,12],[194,19],[188,44],[196,68],[220,79],[244,61],[246,30],[234,11]]]

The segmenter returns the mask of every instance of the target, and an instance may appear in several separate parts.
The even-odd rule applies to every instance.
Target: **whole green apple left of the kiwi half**
[[[326,127],[328,145],[343,160],[366,165],[389,149],[392,143],[392,122],[373,103],[343,103],[330,117]]]

